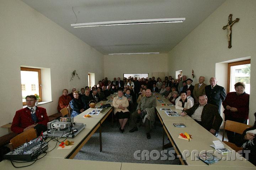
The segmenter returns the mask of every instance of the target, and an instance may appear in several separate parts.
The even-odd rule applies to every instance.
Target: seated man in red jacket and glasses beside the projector
[[[27,107],[16,111],[11,125],[12,132],[21,133],[30,128],[34,128],[37,131],[37,136],[39,136],[42,131],[47,131],[49,118],[47,116],[46,109],[37,107],[35,105],[36,101],[36,96],[26,96]]]

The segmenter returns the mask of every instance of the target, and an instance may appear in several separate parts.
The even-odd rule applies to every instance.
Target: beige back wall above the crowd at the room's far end
[[[104,74],[113,81],[123,78],[124,73],[165,72],[167,76],[167,54],[104,55]],[[157,78],[157,77],[156,77]]]

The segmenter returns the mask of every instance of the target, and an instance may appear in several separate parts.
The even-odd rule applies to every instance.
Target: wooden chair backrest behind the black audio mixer
[[[18,134],[17,136],[15,136],[14,138],[12,138],[10,140],[10,149],[16,149],[17,147],[21,146],[22,144],[31,141],[32,139],[37,137],[37,132],[34,128],[30,128],[20,134]]]

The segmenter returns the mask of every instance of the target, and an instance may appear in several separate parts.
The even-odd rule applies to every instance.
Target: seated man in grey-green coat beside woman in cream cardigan
[[[150,89],[146,89],[146,97],[140,100],[136,111],[132,113],[131,127],[133,128],[129,132],[138,131],[136,121],[138,117],[141,117],[146,126],[146,137],[150,139],[150,130],[155,122],[155,107],[156,98],[151,96]]]

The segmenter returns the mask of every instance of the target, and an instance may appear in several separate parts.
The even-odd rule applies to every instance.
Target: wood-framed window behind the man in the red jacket
[[[39,95],[39,102],[42,102],[41,69],[21,67],[21,89],[23,105],[26,105],[25,97],[32,94]]]

